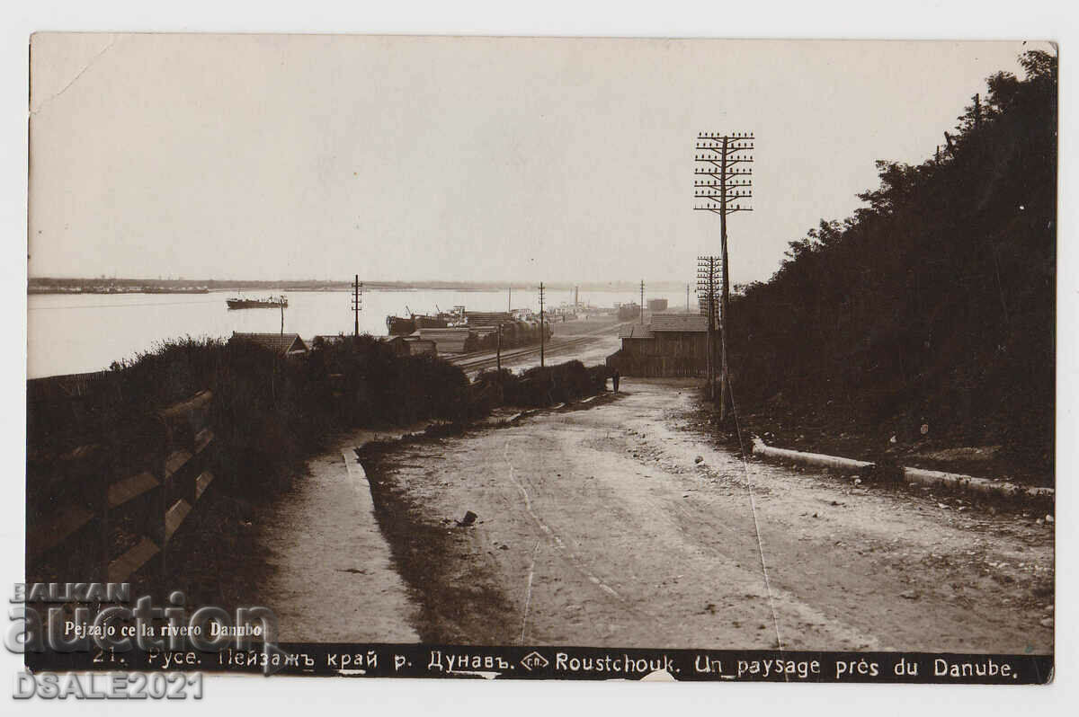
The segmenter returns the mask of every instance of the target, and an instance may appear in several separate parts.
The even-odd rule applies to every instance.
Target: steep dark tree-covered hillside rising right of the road
[[[988,78],[938,155],[877,162],[864,207],[822,220],[733,298],[747,412],[869,432],[882,450],[893,435],[997,444],[1051,477],[1056,58],[1021,61],[1023,79]]]

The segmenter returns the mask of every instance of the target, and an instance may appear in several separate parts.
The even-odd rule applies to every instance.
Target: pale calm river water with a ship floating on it
[[[27,375],[30,378],[108,369],[117,360],[150,350],[159,342],[183,336],[228,339],[233,331],[281,331],[279,309],[229,311],[224,300],[234,292],[205,294],[31,294],[27,298]],[[256,299],[267,293],[251,292]],[[316,334],[352,333],[352,293],[349,291],[286,292],[285,331],[304,339]],[[685,295],[645,294],[667,299],[671,308],[685,303]],[[639,300],[632,291],[581,292],[581,302],[611,306],[614,302]],[[366,291],[359,315],[359,330],[373,335],[386,333],[386,315],[406,315],[406,306],[418,314],[435,313],[436,306],[450,311],[464,305],[469,311],[538,311],[535,291],[456,291],[418,289]],[[549,291],[547,306],[573,302],[572,291]]]

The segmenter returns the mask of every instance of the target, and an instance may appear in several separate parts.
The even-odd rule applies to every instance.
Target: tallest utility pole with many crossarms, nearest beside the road
[[[721,384],[720,384],[720,419],[726,418],[727,399],[730,396],[729,376],[727,375],[727,326],[730,303],[730,272],[727,262],[727,215],[736,211],[752,211],[751,207],[741,206],[742,199],[753,196],[752,180],[749,175],[753,170],[748,165],[753,162],[753,133],[735,133],[721,135],[719,133],[700,133],[697,135],[697,153],[694,161],[697,167],[694,175],[710,179],[696,179],[693,182],[694,197],[704,199],[701,206],[694,205],[695,210],[711,211],[720,215],[720,242],[722,246],[723,292],[720,298],[720,345]]]

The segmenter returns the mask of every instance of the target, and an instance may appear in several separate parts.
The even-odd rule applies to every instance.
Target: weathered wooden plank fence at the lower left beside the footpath
[[[27,477],[27,568],[70,563],[65,580],[123,582],[163,570],[177,530],[214,482],[213,394],[155,412],[149,445],[120,456],[101,443],[80,445]],[[68,570],[77,570],[66,575]]]

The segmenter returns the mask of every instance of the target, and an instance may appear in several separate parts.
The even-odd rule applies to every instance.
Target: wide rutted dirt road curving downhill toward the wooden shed
[[[1051,526],[747,466],[691,383],[624,387],[365,454],[424,642],[1052,651]]]

